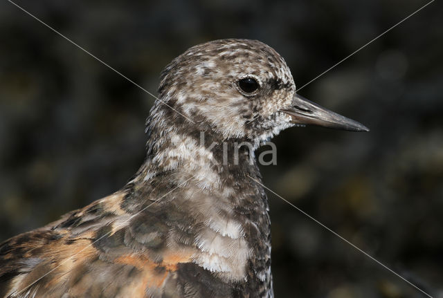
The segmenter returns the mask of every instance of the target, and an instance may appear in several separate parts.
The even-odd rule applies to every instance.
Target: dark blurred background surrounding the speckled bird
[[[159,73],[211,39],[260,39],[298,86],[426,1],[17,3],[156,92]],[[443,297],[443,6],[435,1],[300,94],[370,133],[308,127],[274,139],[264,182]],[[153,98],[0,3],[0,241],[123,186],[144,156]],[[269,194],[276,297],[424,297]]]

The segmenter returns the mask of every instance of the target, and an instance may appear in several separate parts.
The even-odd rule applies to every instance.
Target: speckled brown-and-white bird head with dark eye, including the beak
[[[368,131],[298,95],[284,59],[255,40],[221,39],[186,50],[162,72],[159,95],[201,130],[224,140],[260,143],[304,125]]]

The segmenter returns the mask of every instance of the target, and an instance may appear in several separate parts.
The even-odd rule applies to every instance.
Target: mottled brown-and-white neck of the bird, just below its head
[[[190,174],[205,189],[221,189],[232,176],[235,183],[257,176],[255,144],[242,138],[223,138],[210,127],[189,122],[147,120],[147,153],[136,179],[154,175]],[[230,181],[233,183],[233,181]]]

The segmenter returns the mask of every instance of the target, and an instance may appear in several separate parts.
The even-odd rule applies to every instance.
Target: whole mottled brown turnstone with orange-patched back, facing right
[[[289,127],[368,131],[296,91],[284,59],[261,41],[208,41],[173,59],[136,174],[1,243],[0,297],[273,297],[255,149]]]

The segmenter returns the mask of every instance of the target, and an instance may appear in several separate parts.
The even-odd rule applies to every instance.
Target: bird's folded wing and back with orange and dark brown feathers
[[[137,222],[121,209],[125,195],[117,192],[1,243],[0,297],[177,294],[177,270],[192,252],[165,246],[168,227],[159,218]]]

